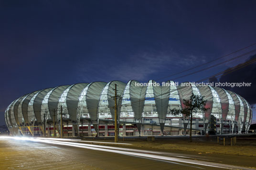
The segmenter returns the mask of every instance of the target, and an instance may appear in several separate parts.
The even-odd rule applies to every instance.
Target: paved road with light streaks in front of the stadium
[[[250,170],[256,167],[255,157],[167,152],[69,139],[4,137],[0,137],[0,162],[1,170]]]

